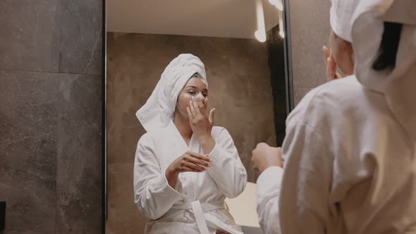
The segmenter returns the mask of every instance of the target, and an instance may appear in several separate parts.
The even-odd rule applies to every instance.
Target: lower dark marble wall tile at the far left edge
[[[55,233],[58,75],[0,70],[5,233]]]

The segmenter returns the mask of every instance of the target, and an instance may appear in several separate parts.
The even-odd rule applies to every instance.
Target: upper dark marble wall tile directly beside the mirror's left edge
[[[61,0],[61,73],[102,74],[102,0]]]

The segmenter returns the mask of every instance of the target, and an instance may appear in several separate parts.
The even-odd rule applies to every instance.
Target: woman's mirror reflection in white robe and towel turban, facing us
[[[137,111],[147,133],[137,144],[134,192],[146,233],[241,233],[224,199],[243,192],[247,173],[207,106],[204,64],[181,54]]]

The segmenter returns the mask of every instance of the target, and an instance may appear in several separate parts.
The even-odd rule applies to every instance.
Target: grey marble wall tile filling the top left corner
[[[0,69],[59,70],[60,0],[0,1]]]

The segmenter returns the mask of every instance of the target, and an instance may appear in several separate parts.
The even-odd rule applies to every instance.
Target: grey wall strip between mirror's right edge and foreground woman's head
[[[290,0],[293,99],[326,82],[322,46],[329,46],[329,0]]]

